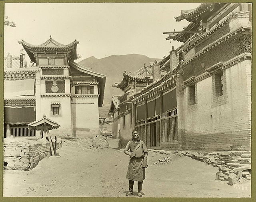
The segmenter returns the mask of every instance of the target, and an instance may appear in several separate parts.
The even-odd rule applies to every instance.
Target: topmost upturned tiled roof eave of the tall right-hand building
[[[176,22],[181,20],[187,20],[188,22],[197,22],[210,16],[212,13],[216,13],[220,7],[226,3],[202,3],[197,8],[191,10],[182,10],[181,15],[174,17]]]

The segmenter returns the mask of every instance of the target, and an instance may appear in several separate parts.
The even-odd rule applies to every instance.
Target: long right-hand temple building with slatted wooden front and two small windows
[[[175,19],[190,24],[166,40],[183,44],[126,101],[132,129],[149,148],[250,150],[251,4],[203,3]]]

